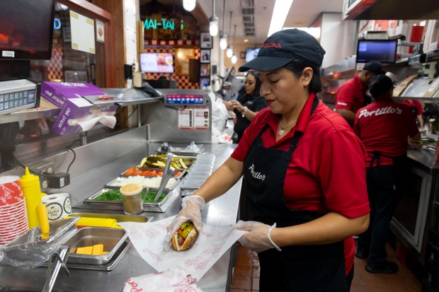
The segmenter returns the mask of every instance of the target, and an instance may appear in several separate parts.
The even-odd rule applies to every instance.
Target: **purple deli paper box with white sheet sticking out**
[[[59,135],[69,135],[81,129],[73,125],[76,120],[96,117],[98,114],[114,115],[116,105],[93,105],[83,96],[107,95],[92,83],[43,82],[41,95],[61,109],[52,131]]]

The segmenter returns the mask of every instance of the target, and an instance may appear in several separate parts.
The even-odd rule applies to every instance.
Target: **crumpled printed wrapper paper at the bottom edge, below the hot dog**
[[[181,268],[157,271],[127,279],[122,292],[134,291],[203,292],[197,284],[197,279]]]

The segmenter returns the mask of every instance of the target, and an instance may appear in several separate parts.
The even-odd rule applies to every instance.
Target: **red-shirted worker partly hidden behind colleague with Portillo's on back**
[[[348,121],[352,126],[355,114],[360,107],[370,103],[367,95],[367,86],[370,79],[375,75],[386,74],[386,68],[380,62],[369,62],[365,64],[360,73],[343,83],[336,92],[336,112]]]

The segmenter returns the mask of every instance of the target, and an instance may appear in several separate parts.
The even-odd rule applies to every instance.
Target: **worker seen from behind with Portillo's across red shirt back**
[[[404,180],[408,137],[421,139],[407,105],[392,100],[394,84],[385,75],[370,80],[369,92],[374,102],[360,108],[354,131],[363,142],[367,158],[367,193],[370,201],[370,225],[358,238],[357,257],[367,258],[365,269],[371,273],[392,274],[398,265],[386,260],[389,223],[399,200]]]

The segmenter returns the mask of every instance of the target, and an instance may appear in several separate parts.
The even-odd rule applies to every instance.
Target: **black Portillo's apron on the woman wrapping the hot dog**
[[[319,101],[314,98],[312,113]],[[259,132],[244,160],[244,181],[252,220],[278,227],[312,221],[323,214],[290,209],[283,185],[292,154],[302,133],[295,132],[290,149],[264,148]],[[261,264],[260,291],[348,291],[343,240],[325,245],[295,245],[258,254]]]

